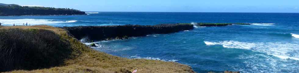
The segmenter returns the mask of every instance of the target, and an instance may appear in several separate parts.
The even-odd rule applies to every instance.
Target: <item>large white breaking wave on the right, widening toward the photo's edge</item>
[[[266,53],[273,55],[281,59],[294,59],[299,60],[299,54],[296,53],[299,50],[299,44],[283,43],[283,42],[270,42],[270,43],[248,43],[239,41],[220,41],[220,42],[209,42],[204,41],[208,46],[210,45],[222,45],[226,48],[239,48]]]

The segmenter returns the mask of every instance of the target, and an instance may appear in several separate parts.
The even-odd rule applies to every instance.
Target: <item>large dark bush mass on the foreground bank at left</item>
[[[68,43],[53,31],[0,30],[0,72],[59,66],[70,54]]]

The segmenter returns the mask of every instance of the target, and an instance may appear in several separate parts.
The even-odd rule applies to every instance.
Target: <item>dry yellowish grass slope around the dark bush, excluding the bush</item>
[[[87,47],[66,30],[52,26],[8,26],[0,29],[23,28],[23,29],[45,29],[59,34],[61,39],[70,42],[73,50],[72,57],[65,60],[65,64],[45,69],[32,71],[15,70],[12,73],[131,73],[137,69],[138,73],[194,73],[187,65],[146,59],[127,59],[98,52]]]

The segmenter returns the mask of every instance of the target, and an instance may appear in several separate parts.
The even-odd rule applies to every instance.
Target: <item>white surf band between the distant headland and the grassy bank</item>
[[[23,25],[23,23],[28,23],[31,25],[45,25],[45,24],[57,24],[57,23],[74,23],[76,20],[70,21],[54,21],[52,19],[0,19],[3,26],[13,26],[13,24]]]

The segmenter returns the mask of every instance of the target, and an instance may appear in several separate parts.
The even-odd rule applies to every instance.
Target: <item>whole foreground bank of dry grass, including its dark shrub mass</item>
[[[7,26],[0,27],[1,33],[10,35],[9,37],[2,38],[0,41],[5,39],[14,39],[15,41],[4,41],[2,43],[17,43],[13,50],[27,49],[25,53],[15,51],[15,56],[20,58],[10,58],[13,60],[9,62],[6,58],[0,57],[1,63],[11,63],[12,65],[5,64],[5,66],[11,66],[9,69],[2,69],[2,72],[12,73],[131,73],[134,69],[137,69],[138,73],[194,73],[194,71],[187,65],[179,64],[175,62],[164,62],[146,59],[127,59],[117,56],[112,56],[103,52],[98,52],[81,43],[75,39],[68,31],[55,28],[52,26]],[[16,32],[13,32],[16,31]],[[18,39],[14,34],[23,34],[20,37],[27,38],[25,40]],[[47,35],[41,35],[49,33]],[[30,34],[30,35],[27,35]],[[28,37],[35,37],[29,39]],[[13,38],[12,38],[13,37]],[[43,38],[48,37],[48,38]],[[54,39],[52,37],[55,37]],[[44,39],[44,40],[41,40]],[[41,40],[42,44],[35,44]],[[53,41],[56,40],[56,41]],[[55,42],[55,43],[54,43]],[[56,43],[60,42],[60,43]],[[0,44],[2,44],[0,43]],[[28,43],[28,44],[26,44]],[[23,44],[23,45],[20,45]],[[26,46],[43,46],[53,48],[34,48]],[[54,45],[60,44],[60,45]],[[6,52],[9,48],[14,45],[0,46]],[[57,48],[61,47],[61,48]],[[2,49],[2,50],[3,50]],[[48,49],[48,50],[47,50]],[[50,50],[49,50],[50,49]],[[2,51],[1,52],[5,52]],[[44,50],[44,51],[42,51]],[[35,51],[35,52],[34,52]],[[37,52],[37,53],[36,53]],[[6,56],[11,56],[7,53],[2,53]],[[21,55],[20,55],[21,54]],[[14,57],[15,57],[14,56]],[[33,56],[33,57],[28,57]],[[53,61],[46,61],[50,58]],[[40,62],[38,62],[38,61]],[[13,64],[23,65],[14,67]],[[28,66],[28,64],[35,64],[34,66]],[[2,65],[2,64],[0,64]],[[4,66],[1,66],[4,67]],[[21,67],[21,68],[19,68]]]

